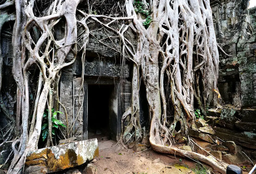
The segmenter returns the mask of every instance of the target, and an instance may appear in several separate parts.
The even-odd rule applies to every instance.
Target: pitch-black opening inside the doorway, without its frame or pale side
[[[88,139],[110,139],[110,98],[114,85],[88,85]]]

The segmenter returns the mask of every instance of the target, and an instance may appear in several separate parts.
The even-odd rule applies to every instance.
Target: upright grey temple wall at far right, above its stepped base
[[[248,1],[210,1],[220,52],[218,86],[224,104],[256,106],[255,9]],[[256,51],[256,50],[255,50]]]

